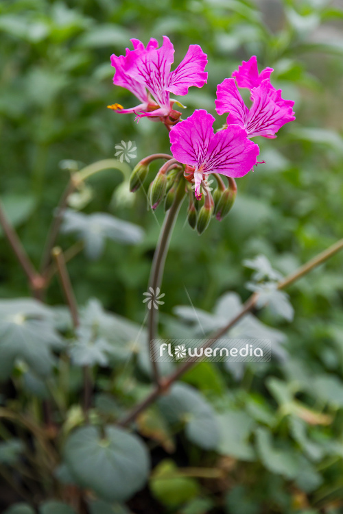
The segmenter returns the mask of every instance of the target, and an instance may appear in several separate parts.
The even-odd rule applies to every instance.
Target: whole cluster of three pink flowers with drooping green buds
[[[134,112],[137,119],[149,117],[165,124],[173,158],[167,160],[150,184],[150,204],[156,208],[165,198],[167,210],[182,175],[184,189],[189,193],[189,223],[203,232],[212,215],[222,219],[233,205],[237,193],[235,178],[260,164],[257,161],[259,146],[251,138],[275,138],[285,123],[295,119],[294,101],[283,99],[281,89],[276,90],[270,82],[273,69],[265,68],[259,73],[257,58],[252,56],[217,86],[215,110],[220,116],[228,114],[221,130],[213,130],[215,118],[204,109],[197,109],[189,118],[181,120],[181,113],[174,110],[176,100],[170,98],[170,93],[187,95],[189,87],[201,88],[206,84],[206,54],[198,45],[191,45],[182,62],[171,71],[174,47],[169,38],[163,36],[160,48],[155,39],[151,39],[147,47],[139,40],[131,41],[133,50],[126,49],[125,56],[111,56],[116,69],[113,82],[134,93],[141,103],[130,109],[118,103],[108,107],[122,114]],[[239,88],[250,90],[250,109]],[[141,186],[151,160],[143,159],[134,169],[132,191]],[[213,194],[209,186],[213,180],[208,180],[210,174],[217,181]],[[220,175],[227,178],[228,185]],[[197,200],[204,197],[202,206],[194,204],[193,193]]]

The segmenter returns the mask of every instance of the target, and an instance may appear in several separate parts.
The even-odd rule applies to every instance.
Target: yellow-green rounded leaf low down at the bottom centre
[[[198,482],[180,475],[178,467],[169,459],[159,463],[150,478],[153,495],[164,505],[175,507],[195,498],[200,492]]]

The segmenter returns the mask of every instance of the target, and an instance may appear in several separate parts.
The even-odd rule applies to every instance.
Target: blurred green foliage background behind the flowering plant
[[[128,91],[113,86],[110,54],[124,53],[130,38],[146,43],[154,37],[161,42],[164,34],[176,47],[176,64],[190,44],[201,45],[209,56],[208,84],[201,90],[192,88],[181,99],[187,105],[183,117],[195,108],[215,114],[217,84],[241,60],[257,55],[260,70],[272,66],[274,86],[283,89],[283,97],[295,100],[296,121],[283,127],[276,140],[257,141],[265,164],[237,181],[237,201],[224,221],[211,221],[200,237],[185,223],[186,206],[182,206],[163,280],[161,334],[198,334],[197,320],[205,328],[209,321],[204,311],[214,313],[212,321],[218,323],[218,316],[230,315],[239,302],[237,295],[244,300],[250,294],[245,284],[251,270],[242,265],[244,259],[263,254],[274,269],[287,274],[341,238],[342,27],[342,1],[1,2],[1,199],[34,263],[40,261],[54,208],[69,179],[68,168],[81,169],[113,158],[117,143],[134,141],[137,159],[123,167],[123,173],[102,171],[88,181],[92,197],[82,212],[107,212],[141,225],[143,241],[128,246],[108,238],[104,252],[93,258],[82,252],[68,269],[80,306],[97,298],[106,310],[137,323],[130,326],[138,332],[159,227],[147,210],[143,191],[128,193],[120,184],[123,175],[128,180],[138,160],[156,151],[168,152],[169,139],[157,123],[142,119],[137,124],[133,116],[106,109],[111,103],[130,107],[135,101]],[[224,117],[217,117],[217,128],[222,123]],[[152,167],[151,178],[156,169]],[[163,215],[163,208],[158,208],[159,223]],[[0,238],[1,298],[27,297],[25,277],[2,232]],[[75,243],[75,234],[60,234],[58,242],[67,249]],[[184,514],[341,512],[342,292],[342,255],[338,254],[289,289],[295,313],[292,323],[272,309],[255,319],[261,334],[279,347],[272,363],[193,369],[185,380],[220,413],[224,440],[206,452],[206,444],[201,450],[191,437],[193,445],[187,446],[187,433],[164,435],[164,450],[152,451],[149,489],[120,509]],[[220,315],[218,297],[222,297]],[[63,303],[56,278],[47,303]],[[189,318],[191,304],[200,309],[196,319]],[[88,308],[93,313],[94,302]],[[208,328],[213,328],[211,323]],[[268,332],[272,328],[274,332]],[[123,339],[128,343],[130,337]],[[123,356],[118,358],[121,362]],[[147,366],[141,363],[137,371],[130,365],[128,376],[115,387],[111,380],[119,371],[113,366],[112,376],[108,363],[96,371],[95,389],[115,393],[119,404],[127,406],[147,389]],[[14,385],[19,380],[16,386],[21,387],[25,372],[18,368],[14,373]],[[77,373],[75,377],[71,404],[78,402]],[[30,412],[32,398],[23,399],[28,394],[25,387],[25,393],[14,393],[12,382],[4,382],[3,404],[19,395],[13,408]],[[39,396],[37,391],[29,389],[34,396]],[[67,411],[71,404],[65,406]],[[151,433],[142,424],[141,433],[149,439]],[[173,466],[212,466],[224,469],[224,476],[174,476],[170,475]],[[54,498],[49,487],[46,491],[43,498]],[[4,490],[3,497],[3,509],[18,500],[15,495],[14,500],[6,500]],[[119,512],[105,511],[115,509],[109,504],[96,508],[100,510],[92,514]]]

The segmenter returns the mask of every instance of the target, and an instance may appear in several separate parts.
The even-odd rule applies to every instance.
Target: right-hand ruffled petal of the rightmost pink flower
[[[246,119],[249,137],[274,138],[279,128],[295,119],[294,101],[284,100],[281,89],[274,89],[269,79],[263,80],[261,86],[252,90],[251,99],[252,107]]]

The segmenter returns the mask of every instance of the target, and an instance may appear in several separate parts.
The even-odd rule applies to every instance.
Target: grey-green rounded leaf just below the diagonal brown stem
[[[185,423],[185,432],[190,441],[205,450],[216,447],[219,430],[215,412],[196,389],[176,383],[169,394],[158,400],[158,405],[170,423]]]

